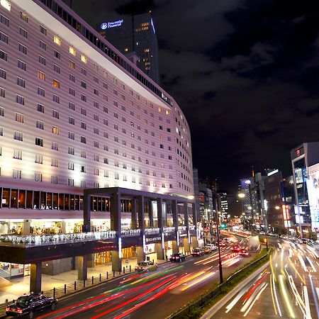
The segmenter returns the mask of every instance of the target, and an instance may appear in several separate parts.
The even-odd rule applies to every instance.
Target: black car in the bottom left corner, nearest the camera
[[[42,293],[30,293],[19,297],[6,307],[6,315],[28,316],[33,318],[34,313],[47,308],[55,309],[57,298],[44,296]]]

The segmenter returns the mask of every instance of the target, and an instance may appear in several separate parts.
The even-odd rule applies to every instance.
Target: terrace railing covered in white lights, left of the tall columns
[[[11,242],[31,246],[62,244],[64,242],[82,242],[83,240],[103,240],[115,238],[116,232],[89,232],[59,235],[0,235],[0,242]]]

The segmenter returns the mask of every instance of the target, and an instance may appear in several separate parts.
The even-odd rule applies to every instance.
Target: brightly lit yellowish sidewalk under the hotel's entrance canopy
[[[162,264],[166,262],[165,260],[157,260],[157,264]],[[131,267],[131,272],[134,272],[134,267],[137,264],[136,258],[128,259],[128,264],[123,260],[122,266],[125,267],[125,272],[129,272]],[[97,282],[97,278],[101,274],[104,278],[106,276],[106,272],[108,272],[109,278],[113,278],[112,272],[112,264],[103,264],[96,265],[96,267],[87,269],[87,277],[91,279],[94,276],[95,282]],[[116,276],[119,276],[119,273],[116,273]],[[43,274],[42,275],[42,290],[50,291],[53,288],[63,288],[65,284],[74,284],[74,281],[77,281],[77,270],[70,270],[69,272],[62,272],[61,274],[57,274],[55,276],[50,276]],[[12,301],[13,299],[18,298],[23,295],[23,293],[29,293],[30,287],[30,276],[23,276],[9,279],[11,285],[0,287],[0,303],[8,301]]]

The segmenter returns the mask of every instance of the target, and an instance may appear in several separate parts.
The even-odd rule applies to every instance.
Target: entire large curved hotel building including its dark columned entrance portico
[[[61,0],[1,0],[0,41],[0,232],[26,242],[106,232],[110,247],[82,250],[82,278],[87,256],[118,270],[116,256],[189,250],[186,241],[196,241],[191,136],[172,96]],[[33,291],[41,260],[60,267],[41,242],[1,254],[0,262],[31,264]],[[21,259],[31,248],[38,262]]]

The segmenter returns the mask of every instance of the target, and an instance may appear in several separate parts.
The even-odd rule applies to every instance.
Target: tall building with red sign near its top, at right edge
[[[311,231],[311,217],[312,215],[315,217],[315,211],[312,214],[310,212],[307,181],[309,167],[319,162],[319,142],[305,142],[291,150],[290,154],[296,200],[296,223],[298,224],[299,233],[303,237],[303,233],[307,236],[308,232]]]

